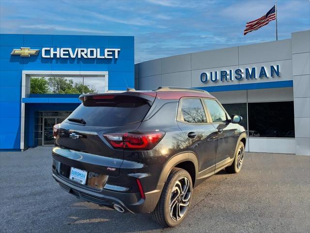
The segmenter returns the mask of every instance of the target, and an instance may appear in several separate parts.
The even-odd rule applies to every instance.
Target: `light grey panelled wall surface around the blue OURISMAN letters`
[[[255,54],[255,55],[253,55]],[[259,79],[260,67],[266,67],[267,74],[271,65],[279,65],[279,77]],[[202,83],[202,72],[221,70],[233,71],[240,68],[256,68],[256,79],[241,81],[217,81]],[[136,64],[135,79],[137,89],[150,90],[158,86],[209,87],[246,83],[268,83],[292,80],[292,43],[291,39],[271,41],[254,45],[209,50],[155,59]],[[158,76],[160,75],[160,77]],[[269,74],[268,74],[269,75]],[[244,74],[243,74],[244,76]]]

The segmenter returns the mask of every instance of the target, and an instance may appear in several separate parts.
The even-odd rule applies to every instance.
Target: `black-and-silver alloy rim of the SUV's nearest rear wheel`
[[[190,198],[190,182],[186,177],[182,177],[174,184],[171,192],[169,213],[173,221],[178,221],[185,215]]]

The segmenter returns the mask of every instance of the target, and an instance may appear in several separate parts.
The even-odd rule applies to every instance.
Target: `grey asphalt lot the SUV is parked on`
[[[0,152],[1,232],[310,232],[310,156],[247,153],[241,173],[206,180],[182,225],[163,229],[150,215],[65,193],[51,177],[50,150]]]

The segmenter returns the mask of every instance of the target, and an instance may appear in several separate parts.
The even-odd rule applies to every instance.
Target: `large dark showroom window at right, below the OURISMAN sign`
[[[295,137],[294,102],[248,103],[249,136]]]

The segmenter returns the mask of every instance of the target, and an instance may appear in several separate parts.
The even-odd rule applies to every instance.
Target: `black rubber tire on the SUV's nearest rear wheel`
[[[187,181],[189,182],[189,184],[187,183]],[[181,214],[180,211],[179,212],[177,211],[178,204],[180,202],[178,202],[178,200],[176,200],[177,198],[174,198],[174,197],[179,197],[179,195],[177,194],[178,190],[175,190],[175,189],[178,189],[177,188],[178,182],[182,183],[182,184],[187,183],[188,184],[187,190],[190,189],[190,191],[189,191],[189,193],[186,191],[185,192],[186,194],[184,196],[182,196],[182,195],[180,196],[180,202],[182,202],[182,204],[183,204],[184,199],[187,200],[187,198],[189,198],[189,200],[186,201],[186,204],[188,202],[188,205],[186,205],[186,207],[184,207],[183,205],[182,205],[182,207],[180,207],[180,208],[186,208],[186,210],[182,209],[181,212],[184,212],[184,213],[182,213],[181,218],[177,220],[175,218],[173,219],[173,214],[175,214],[177,216],[178,216],[178,213]],[[183,185],[183,188],[184,187],[185,186]],[[174,191],[172,192],[173,189],[174,189]],[[186,188],[184,188],[184,190],[186,190]],[[169,174],[169,177],[168,177],[166,183],[165,183],[165,186],[164,186],[163,191],[161,193],[160,199],[159,199],[159,201],[155,207],[155,210],[152,212],[153,219],[157,223],[159,223],[165,227],[175,227],[175,226],[179,225],[185,219],[186,214],[188,212],[188,209],[190,206],[190,201],[191,201],[191,196],[192,196],[192,190],[193,190],[193,185],[192,185],[192,180],[191,180],[189,173],[186,170],[181,169],[181,168],[173,168],[171,170],[171,173]],[[175,195],[175,196],[173,197],[173,195]],[[182,197],[184,197],[184,198],[182,198]],[[173,205],[170,206],[171,199],[175,200],[175,202],[176,202],[176,204],[175,204],[176,206],[174,205],[175,207],[172,207],[172,210],[174,210],[174,208],[175,208],[175,211],[176,211],[176,212],[172,211],[172,217],[170,214],[170,207],[173,206]],[[174,201],[171,203],[174,203]]]

